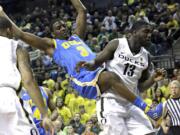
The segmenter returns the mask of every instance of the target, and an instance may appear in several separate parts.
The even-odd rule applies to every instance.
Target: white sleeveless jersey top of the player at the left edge
[[[0,87],[18,89],[21,82],[16,58],[18,42],[1,36],[0,41]]]

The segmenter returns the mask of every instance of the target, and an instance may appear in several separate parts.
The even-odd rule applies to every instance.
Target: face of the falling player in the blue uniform
[[[53,24],[53,35],[54,38],[67,39],[68,30],[63,21],[57,21]]]

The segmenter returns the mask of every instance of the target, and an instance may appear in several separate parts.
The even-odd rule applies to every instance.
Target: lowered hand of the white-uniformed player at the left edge
[[[54,125],[48,117],[43,118],[42,126],[46,131],[49,131],[51,135],[54,135]]]

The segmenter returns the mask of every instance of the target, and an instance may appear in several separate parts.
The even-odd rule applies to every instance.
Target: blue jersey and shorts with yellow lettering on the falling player
[[[96,57],[90,48],[76,35],[68,40],[55,39],[55,50],[53,59],[56,64],[66,69],[72,78],[72,86],[79,94],[86,98],[96,98],[96,82],[99,69],[87,71],[80,69],[80,73],[75,70],[76,64],[80,61],[91,61]]]

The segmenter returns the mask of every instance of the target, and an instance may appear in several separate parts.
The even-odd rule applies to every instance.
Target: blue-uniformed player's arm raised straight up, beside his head
[[[78,13],[74,33],[83,39],[86,31],[86,7],[80,0],[71,0],[71,2]]]

